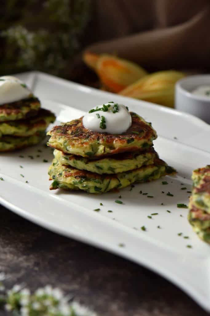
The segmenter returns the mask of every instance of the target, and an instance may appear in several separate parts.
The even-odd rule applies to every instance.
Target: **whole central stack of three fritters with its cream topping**
[[[122,117],[124,110],[130,118],[129,128],[122,134],[109,133],[109,117],[111,121],[111,115],[115,115],[115,125],[120,125],[122,120],[117,117],[117,112],[122,111]],[[50,180],[54,180],[51,190],[63,188],[103,193],[175,172],[159,159],[153,149],[156,131],[142,117],[114,102],[88,113],[93,112],[101,132],[84,127],[83,117],[55,126],[48,132],[51,136],[48,146],[55,148],[48,172]],[[106,117],[104,112],[107,112]],[[91,124],[95,130],[94,123]]]

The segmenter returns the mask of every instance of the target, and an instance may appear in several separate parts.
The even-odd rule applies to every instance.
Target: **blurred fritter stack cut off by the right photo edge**
[[[198,237],[210,243],[210,165],[192,173],[188,220]]]

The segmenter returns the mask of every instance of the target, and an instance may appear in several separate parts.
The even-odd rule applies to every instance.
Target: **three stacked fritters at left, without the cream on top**
[[[54,114],[40,108],[39,99],[32,94],[26,99],[0,105],[0,152],[38,144],[54,120]]]

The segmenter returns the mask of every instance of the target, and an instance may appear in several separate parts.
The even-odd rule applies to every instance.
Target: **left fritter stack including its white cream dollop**
[[[13,76],[0,77],[0,152],[36,145],[54,120],[25,83]]]

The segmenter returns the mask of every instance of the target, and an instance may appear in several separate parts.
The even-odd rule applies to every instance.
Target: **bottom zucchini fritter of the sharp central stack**
[[[172,174],[175,170],[156,158],[154,164],[138,169],[116,173],[92,173],[73,167],[61,165],[56,159],[49,168],[50,180],[54,180],[50,190],[62,188],[65,190],[83,190],[89,193],[104,193],[113,189],[122,189],[134,182],[147,182],[163,175]]]

